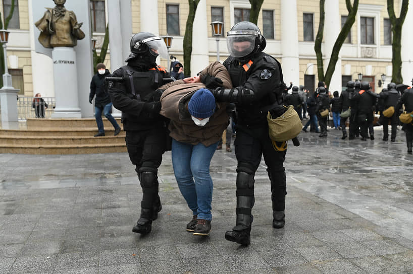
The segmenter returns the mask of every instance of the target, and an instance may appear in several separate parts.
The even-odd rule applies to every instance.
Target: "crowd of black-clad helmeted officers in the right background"
[[[368,82],[348,81],[346,89],[341,92],[339,98],[330,98],[326,94],[325,84],[320,82],[319,87],[314,93],[309,95],[305,102],[303,96],[298,93],[298,87],[296,86],[292,87],[292,94],[285,95],[285,102],[294,106],[300,118],[302,105],[306,105],[310,119],[317,115],[317,118],[315,118],[315,131],[319,132],[318,120],[321,131],[320,137],[327,136],[328,119],[328,116],[322,116],[321,113],[326,109],[341,113],[340,127],[343,132],[342,140],[346,139],[347,136],[349,140],[353,140],[358,136],[361,137],[362,141],[366,141],[368,138],[374,140],[374,113],[380,114],[376,124],[383,125],[383,141],[387,142],[389,139],[390,124],[390,141],[395,142],[397,126],[402,124],[402,129],[406,132],[407,152],[412,152],[413,125],[411,123],[403,124],[399,121],[399,115],[403,112],[403,106],[405,112],[413,111],[413,91],[410,87],[406,88],[404,85],[389,83],[387,88],[384,88],[377,94],[371,90]],[[346,130],[347,121],[349,124],[348,135]],[[306,132],[309,124],[310,121],[304,125],[303,131]]]

